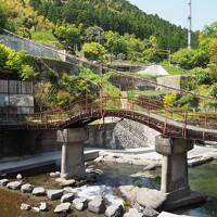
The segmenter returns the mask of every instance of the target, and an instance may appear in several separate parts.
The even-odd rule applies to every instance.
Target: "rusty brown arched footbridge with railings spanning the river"
[[[105,117],[131,119],[167,137],[217,141],[217,129],[214,126],[216,117],[165,108],[161,101],[150,98],[86,99],[62,110],[27,115],[16,122],[0,122],[0,128],[58,130],[82,127]]]

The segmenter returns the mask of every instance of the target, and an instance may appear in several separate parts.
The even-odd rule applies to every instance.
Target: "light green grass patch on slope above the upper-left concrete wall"
[[[31,39],[40,43],[56,44],[58,40],[51,31],[31,31]]]

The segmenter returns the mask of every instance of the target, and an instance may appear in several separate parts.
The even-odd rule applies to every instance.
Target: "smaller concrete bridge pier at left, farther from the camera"
[[[84,128],[58,131],[58,141],[62,143],[62,178],[80,179],[85,177],[84,142],[86,139]]]

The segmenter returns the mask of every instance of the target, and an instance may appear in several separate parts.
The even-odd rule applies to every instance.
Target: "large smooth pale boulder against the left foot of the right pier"
[[[143,207],[157,209],[166,201],[166,194],[162,191],[141,188],[137,192],[137,203]]]

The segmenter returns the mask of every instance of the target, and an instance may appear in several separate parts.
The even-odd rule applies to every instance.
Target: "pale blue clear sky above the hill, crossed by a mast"
[[[148,14],[188,27],[188,0],[128,0]],[[192,0],[192,27],[201,30],[217,21],[217,0]]]

